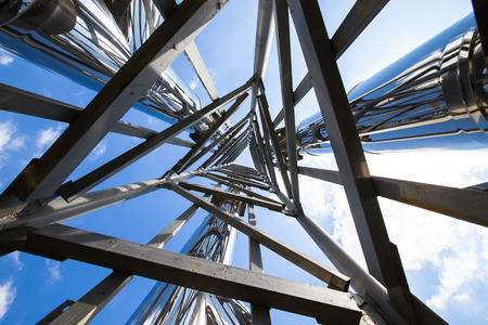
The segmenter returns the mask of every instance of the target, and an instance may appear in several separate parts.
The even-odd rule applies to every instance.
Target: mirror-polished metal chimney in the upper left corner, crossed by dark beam
[[[163,21],[147,0],[10,0],[0,3],[0,48],[99,91]],[[171,122],[201,102],[168,68],[137,108]]]

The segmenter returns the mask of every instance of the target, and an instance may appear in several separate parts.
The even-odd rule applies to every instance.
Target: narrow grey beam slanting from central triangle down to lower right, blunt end
[[[202,209],[219,218],[223,222],[235,227],[237,231],[244,233],[245,235],[252,237],[253,239],[259,242],[259,244],[266,246],[270,250],[285,258],[295,265],[304,269],[311,275],[320,278],[321,281],[329,284],[330,287],[346,291],[349,286],[349,278],[343,274],[332,270],[331,268],[322,264],[319,261],[306,256],[303,252],[290,247],[288,245],[278,240],[277,238],[268,235],[260,229],[249,225],[247,222],[241,220],[240,218],[233,217],[231,213],[221,210],[219,207],[201,199],[193,193],[178,186],[175,183],[167,184],[170,190],[177,194],[185,197],[193,204],[200,206]]]

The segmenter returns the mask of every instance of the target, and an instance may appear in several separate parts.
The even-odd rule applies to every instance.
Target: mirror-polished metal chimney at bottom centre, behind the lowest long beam
[[[235,213],[237,207],[224,200],[220,208]],[[209,214],[181,252],[230,264],[235,236],[233,227]],[[234,299],[157,283],[127,324],[251,324],[251,313]]]

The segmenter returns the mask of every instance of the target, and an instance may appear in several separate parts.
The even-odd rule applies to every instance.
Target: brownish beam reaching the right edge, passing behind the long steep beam
[[[342,184],[335,170],[299,167],[298,172]],[[372,177],[376,194],[455,219],[488,226],[488,192]]]

